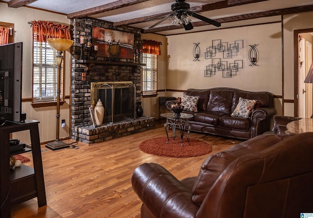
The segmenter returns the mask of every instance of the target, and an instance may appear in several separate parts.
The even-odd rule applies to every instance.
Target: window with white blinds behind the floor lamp
[[[55,101],[57,98],[58,80],[55,56],[56,51],[48,43],[34,40],[33,102]],[[63,90],[62,72],[63,68],[61,67],[61,90]],[[63,96],[62,91],[61,96]]]

